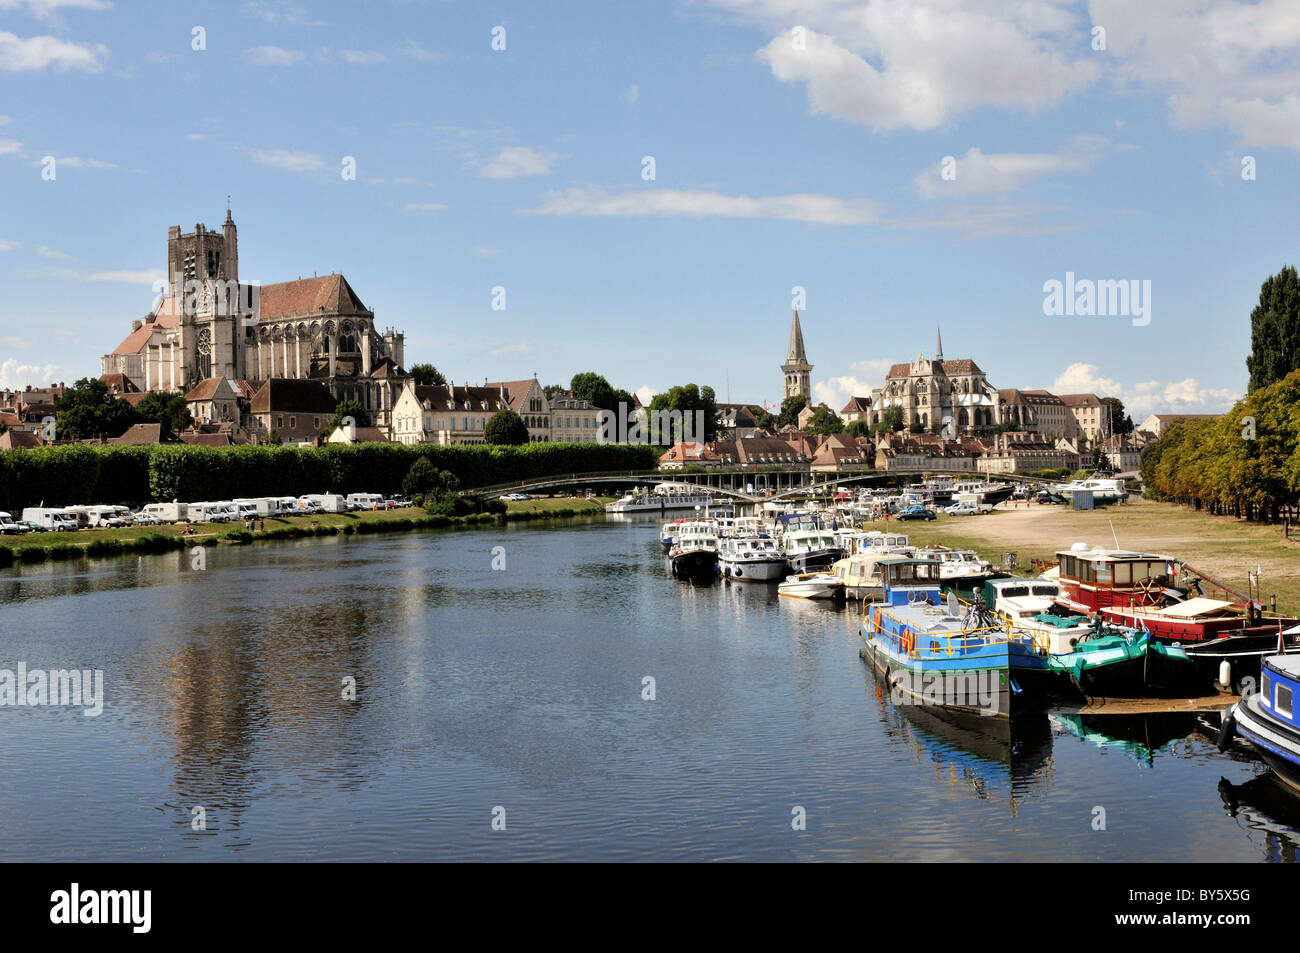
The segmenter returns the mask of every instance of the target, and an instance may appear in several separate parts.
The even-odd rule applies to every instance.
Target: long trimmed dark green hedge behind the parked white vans
[[[658,449],[621,443],[324,447],[61,446],[0,451],[0,510],[304,493],[400,493],[419,458],[451,471],[465,489],[559,473],[653,469]]]

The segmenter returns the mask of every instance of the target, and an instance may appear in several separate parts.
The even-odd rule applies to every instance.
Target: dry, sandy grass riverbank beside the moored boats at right
[[[1279,611],[1300,612],[1300,540],[1284,540],[1277,525],[1209,516],[1175,503],[1132,499],[1080,511],[1032,503],[982,516],[940,516],[935,523],[871,524],[885,527],[919,545],[972,549],[994,564],[1004,553],[1015,553],[1022,571],[1035,558],[1054,560],[1075,542],[1114,547],[1115,537],[1124,549],[1175,555],[1243,593],[1247,573],[1258,566],[1264,601],[1277,595]]]

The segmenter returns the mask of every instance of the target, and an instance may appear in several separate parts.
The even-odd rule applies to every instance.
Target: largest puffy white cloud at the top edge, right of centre
[[[714,3],[775,34],[758,57],[781,82],[805,85],[812,112],[881,131],[936,129],[982,107],[1052,107],[1102,68],[1079,42],[1079,18],[1054,3]]]

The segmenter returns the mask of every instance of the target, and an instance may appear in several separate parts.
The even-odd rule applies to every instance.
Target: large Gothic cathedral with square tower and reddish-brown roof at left
[[[358,400],[387,426],[410,374],[404,335],[382,334],[342,274],[259,285],[239,278],[230,209],[221,230],[168,229],[168,281],[153,308],[100,360],[142,391],[188,393],[213,378],[313,380],[335,400]]]

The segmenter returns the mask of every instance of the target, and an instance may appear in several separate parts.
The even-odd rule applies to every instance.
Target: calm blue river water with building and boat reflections
[[[0,572],[0,668],[104,672],[99,716],[0,707],[0,859],[1291,861],[1300,844],[1297,801],[1195,716],[1013,735],[901,711],[852,607],[679,582],[654,521],[205,555]]]

